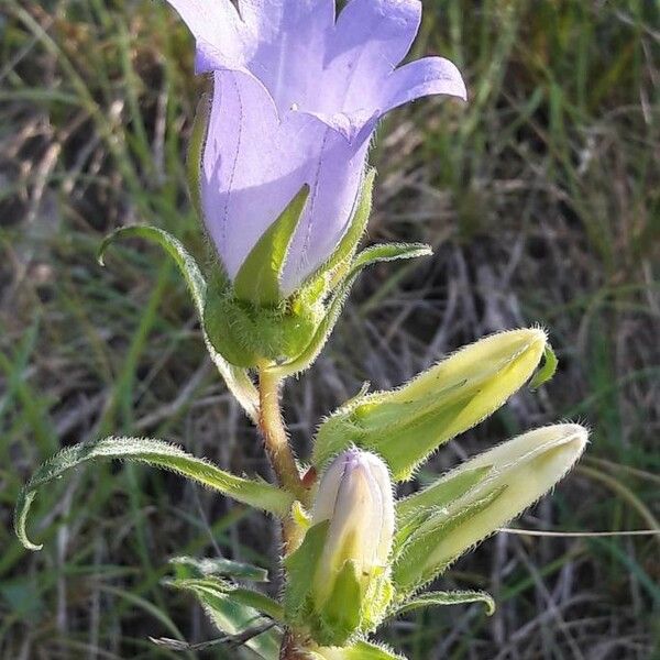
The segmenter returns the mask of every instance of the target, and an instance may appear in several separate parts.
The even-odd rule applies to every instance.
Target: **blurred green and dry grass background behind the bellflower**
[[[415,55],[465,72],[471,100],[389,118],[370,238],[436,256],[377,267],[327,352],[287,386],[301,451],[320,416],[396,385],[481,334],[539,322],[554,381],[451,443],[431,468],[532,425],[587,422],[582,468],[520,527],[646,529],[660,516],[660,9],[645,0],[429,0]],[[155,222],[198,254],[183,154],[204,85],[164,3],[0,4],[0,657],[167,658],[148,635],[206,639],[160,584],[173,554],[273,565],[271,522],[145,469],[77,473],[37,501],[28,554],[11,531],[24,479],[59,446],[166,437],[267,474],[204,354],[184,285],[142,245],[95,258],[112,228]],[[421,475],[424,476],[424,474]],[[494,592],[384,638],[413,660],[660,657],[657,537],[499,535],[442,586]],[[200,656],[201,657],[201,656]]]

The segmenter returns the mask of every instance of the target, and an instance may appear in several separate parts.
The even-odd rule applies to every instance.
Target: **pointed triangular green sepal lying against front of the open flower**
[[[279,277],[308,197],[309,186],[305,184],[245,257],[233,282],[237,298],[260,307],[282,300]]]

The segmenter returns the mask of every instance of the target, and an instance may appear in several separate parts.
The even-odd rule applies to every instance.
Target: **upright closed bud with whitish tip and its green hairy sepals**
[[[321,479],[302,544],[285,564],[290,624],[321,646],[343,646],[382,620],[393,590],[389,473],[376,455],[350,449]]]

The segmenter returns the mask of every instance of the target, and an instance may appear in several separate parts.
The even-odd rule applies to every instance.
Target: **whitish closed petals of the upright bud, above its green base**
[[[394,499],[385,463],[376,455],[351,449],[340,454],[321,480],[312,525],[329,520],[321,561],[314,578],[316,604],[331,596],[345,562],[367,586],[371,575],[387,565],[394,532]]]

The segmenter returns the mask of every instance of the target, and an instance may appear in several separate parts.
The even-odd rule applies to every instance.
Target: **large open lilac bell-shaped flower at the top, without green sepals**
[[[233,278],[304,185],[309,197],[282,272],[287,296],[350,224],[370,138],[416,98],[465,98],[457,67],[426,57],[398,67],[418,0],[168,0],[197,40],[213,94],[200,163],[207,231]]]

